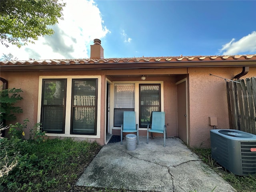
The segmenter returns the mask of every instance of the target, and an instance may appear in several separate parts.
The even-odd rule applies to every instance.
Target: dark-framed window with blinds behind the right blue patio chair
[[[152,111],[161,111],[160,84],[140,84],[140,128],[147,128]]]

